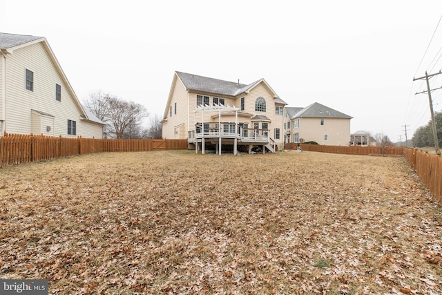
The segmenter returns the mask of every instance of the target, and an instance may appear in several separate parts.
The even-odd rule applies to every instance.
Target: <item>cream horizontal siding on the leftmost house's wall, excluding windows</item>
[[[29,134],[35,131],[31,123],[31,110],[35,110],[55,116],[51,135],[77,137],[67,134],[67,120],[74,120],[77,122],[77,135],[102,137],[101,125],[81,122],[81,111],[75,104],[75,97],[70,95],[43,44],[37,43],[17,49],[8,55],[6,62],[8,133]],[[26,69],[34,73],[34,91],[25,88]],[[61,102],[55,99],[55,84],[61,86]],[[40,126],[40,130],[42,129]],[[46,125],[44,133],[48,133]]]

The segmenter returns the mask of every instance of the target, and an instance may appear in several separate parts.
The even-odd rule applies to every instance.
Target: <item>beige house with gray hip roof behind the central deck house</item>
[[[285,142],[348,146],[352,117],[315,102],[306,108],[285,107]]]

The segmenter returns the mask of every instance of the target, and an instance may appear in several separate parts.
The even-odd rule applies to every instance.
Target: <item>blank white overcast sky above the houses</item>
[[[288,106],[324,104],[394,142],[430,120],[413,77],[442,68],[441,17],[441,0],[0,0],[0,32],[46,37],[81,101],[103,91],[162,116],[175,70],[264,78]]]

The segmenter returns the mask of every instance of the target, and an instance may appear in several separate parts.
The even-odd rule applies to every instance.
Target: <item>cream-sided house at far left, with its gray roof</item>
[[[44,37],[0,33],[0,136],[103,137]]]

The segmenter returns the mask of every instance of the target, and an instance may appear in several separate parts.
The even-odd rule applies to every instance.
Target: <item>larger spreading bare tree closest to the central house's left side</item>
[[[117,138],[122,135],[128,126],[137,126],[142,122],[144,117],[148,116],[148,112],[144,106],[135,102],[126,101],[116,96],[108,96],[108,119],[112,122],[113,129],[117,134]]]

